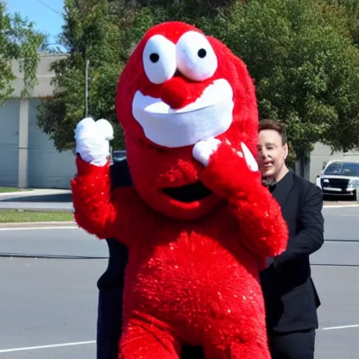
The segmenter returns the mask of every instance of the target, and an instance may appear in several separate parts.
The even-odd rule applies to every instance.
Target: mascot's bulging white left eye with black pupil
[[[176,72],[176,46],[162,35],[154,35],[142,55],[144,72],[151,83],[164,83]]]

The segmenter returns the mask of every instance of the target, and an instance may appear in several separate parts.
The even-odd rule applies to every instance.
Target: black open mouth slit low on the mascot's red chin
[[[163,192],[175,201],[183,203],[201,201],[212,194],[202,182],[186,184],[181,187],[166,187]]]

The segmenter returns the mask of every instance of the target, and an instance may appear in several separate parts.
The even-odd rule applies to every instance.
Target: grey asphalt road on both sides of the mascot
[[[359,208],[323,212],[327,241],[311,258],[322,299],[316,359],[356,359]],[[107,256],[105,243],[80,229],[0,229],[0,248],[38,257],[0,258],[0,359],[95,358],[96,280],[107,265],[98,259]]]

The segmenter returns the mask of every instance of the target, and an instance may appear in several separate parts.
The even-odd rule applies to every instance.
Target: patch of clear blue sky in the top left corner
[[[36,29],[48,34],[48,42],[56,42],[56,35],[62,31],[61,17],[64,0],[5,0],[8,13],[20,13],[35,23]],[[52,10],[51,10],[52,9]]]

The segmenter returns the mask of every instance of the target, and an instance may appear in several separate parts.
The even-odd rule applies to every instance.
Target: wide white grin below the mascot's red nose
[[[215,80],[201,97],[181,109],[171,109],[160,98],[133,98],[133,117],[144,135],[163,147],[186,147],[204,138],[222,135],[233,121],[233,90],[225,79]]]

